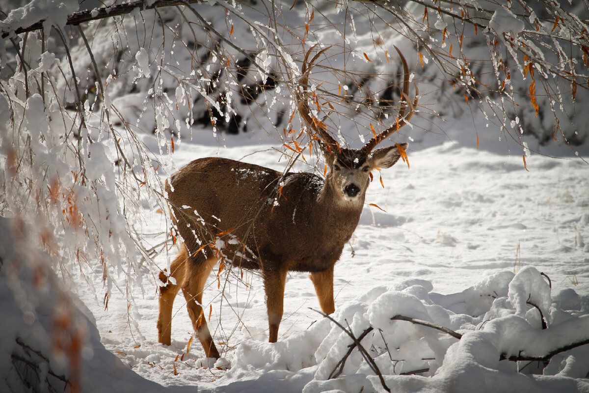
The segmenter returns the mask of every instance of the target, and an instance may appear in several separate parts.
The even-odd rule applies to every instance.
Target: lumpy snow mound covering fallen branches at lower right
[[[589,348],[580,345],[587,342],[589,315],[564,310],[571,299],[578,305],[574,290],[552,297],[534,267],[496,273],[451,295],[419,284],[374,288],[342,305],[333,320],[276,344],[244,341],[226,382],[259,368],[298,376],[305,393],[385,391],[384,385],[391,391],[589,391],[589,382],[574,379],[589,372]],[[452,335],[393,319],[398,315]]]

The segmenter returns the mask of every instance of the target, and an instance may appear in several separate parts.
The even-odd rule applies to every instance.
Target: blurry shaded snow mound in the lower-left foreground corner
[[[94,317],[63,288],[51,257],[31,247],[32,233],[0,217],[0,391],[164,391],[104,348]]]

